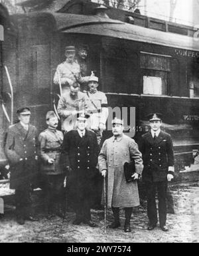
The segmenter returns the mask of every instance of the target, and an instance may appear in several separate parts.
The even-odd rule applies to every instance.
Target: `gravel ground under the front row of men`
[[[93,220],[99,225],[95,228],[84,224],[72,225],[75,217],[72,212],[66,214],[64,222],[59,217],[48,221],[41,210],[38,212],[38,222],[27,221],[25,225],[20,226],[15,221],[14,211],[9,210],[0,219],[0,242],[199,242],[199,186],[172,188],[172,193],[176,214],[168,214],[168,233],[161,231],[159,227],[147,231],[147,213],[143,206],[134,209],[131,233],[123,232],[125,219],[121,210],[121,227],[116,230],[107,229],[106,235],[103,232],[103,211],[100,210],[92,210]],[[107,223],[112,220],[111,211],[108,210]]]

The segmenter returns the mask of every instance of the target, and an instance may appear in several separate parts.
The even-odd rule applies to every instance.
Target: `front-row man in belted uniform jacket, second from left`
[[[60,161],[60,155],[64,136],[62,132],[56,130],[58,118],[54,111],[47,112],[46,124],[48,128],[40,133],[38,141],[40,143],[40,157],[42,160],[40,170],[44,180],[47,218],[50,219],[54,212],[59,216],[62,214],[64,166]]]

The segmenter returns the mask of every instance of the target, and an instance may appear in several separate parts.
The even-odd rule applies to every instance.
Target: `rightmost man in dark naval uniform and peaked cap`
[[[143,182],[147,189],[148,230],[157,226],[156,190],[159,198],[159,221],[163,231],[166,227],[166,190],[174,178],[174,152],[169,134],[161,131],[162,114],[149,114],[151,131],[143,135],[140,150],[143,154]]]

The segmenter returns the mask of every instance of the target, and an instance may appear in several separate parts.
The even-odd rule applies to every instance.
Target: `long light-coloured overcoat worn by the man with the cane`
[[[105,140],[98,158],[100,172],[107,170],[107,206],[135,207],[139,205],[137,181],[127,183],[123,171],[125,162],[135,161],[137,174],[143,171],[142,154],[135,140],[122,134]],[[102,199],[103,201],[103,199]]]

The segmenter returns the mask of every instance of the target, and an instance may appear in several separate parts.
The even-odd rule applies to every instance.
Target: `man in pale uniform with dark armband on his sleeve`
[[[98,145],[100,146],[102,132],[108,117],[107,97],[104,92],[98,90],[98,77],[91,75],[88,80],[89,90],[86,93],[89,99],[90,128],[96,133]]]

